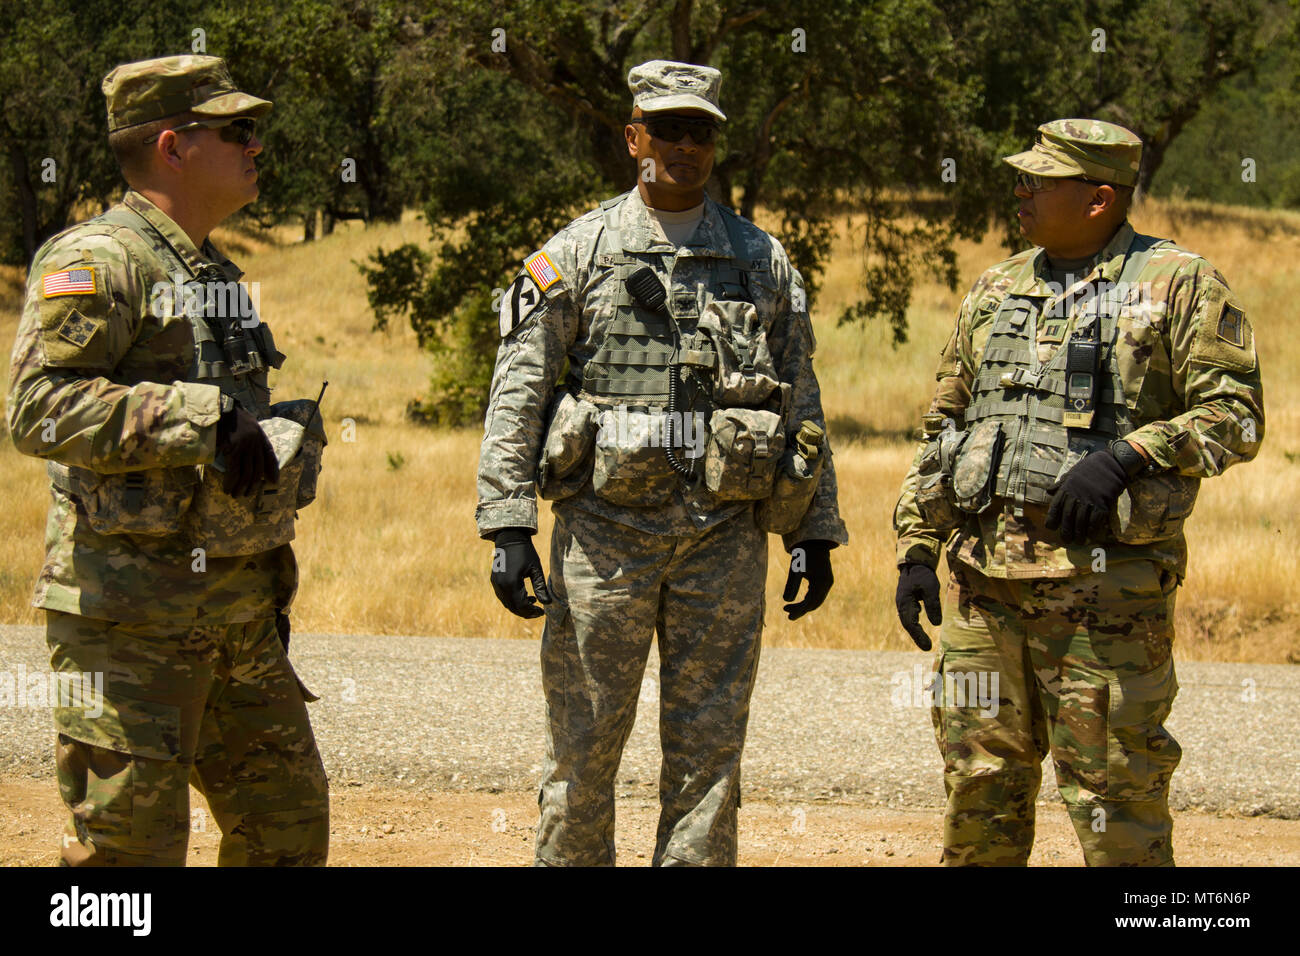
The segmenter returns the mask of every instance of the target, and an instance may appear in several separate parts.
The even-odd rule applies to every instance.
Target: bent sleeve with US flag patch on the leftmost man
[[[218,389],[114,381],[142,332],[150,290],[117,241],[69,238],[38,254],[27,280],[9,369],[14,445],[103,473],[211,462]],[[182,321],[183,330],[164,332],[183,334]]]

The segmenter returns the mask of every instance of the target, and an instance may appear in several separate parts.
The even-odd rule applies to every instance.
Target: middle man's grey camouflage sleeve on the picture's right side
[[[777,300],[768,343],[776,363],[777,376],[783,382],[792,385],[788,420],[797,424],[809,419],[826,431],[822,388],[812,372],[812,352],[816,349],[816,339],[812,336],[812,321],[809,317],[803,277],[800,276],[798,269],[789,264],[784,250],[781,250],[780,256],[774,258],[774,271],[779,271],[775,278],[783,285],[784,295]],[[783,276],[781,272],[786,274]],[[849,544],[849,529],[840,518],[840,490],[835,479],[835,457],[831,450],[829,432],[827,432],[823,444],[823,454],[826,463],[822,466],[822,477],[812,494],[812,503],[809,505],[807,514],[803,515],[800,527],[781,536],[786,551],[792,550],[800,541],[822,540],[841,545]]]

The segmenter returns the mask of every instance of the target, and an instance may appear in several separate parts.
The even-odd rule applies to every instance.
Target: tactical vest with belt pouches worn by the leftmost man
[[[191,274],[166,237],[127,206],[114,206],[95,221],[124,228],[117,238],[127,247],[143,245],[136,251],[140,258],[161,256],[166,261],[166,282],[173,284],[176,276],[188,277],[182,294],[187,299],[202,297],[203,308],[186,310],[183,300],[170,303],[173,315],[183,313],[190,320],[194,336],[194,360],[185,381],[216,385],[260,420],[287,420],[276,423],[272,438],[277,457],[283,458],[281,477],[273,486],[234,498],[221,489],[222,476],[211,466],[101,475],[51,462],[52,483],[82,505],[91,528],[101,535],[182,533],[188,545],[203,548],[212,558],[256,554],[291,541],[296,509],[315,498],[324,427],[309,401],[270,405],[266,373],[269,368],[280,368],[285,356],[261,321],[243,328],[243,319],[254,315],[243,285],[231,282],[216,264]],[[152,290],[147,294],[152,298]],[[218,307],[222,294],[226,306],[235,308]],[[155,302],[148,307],[155,307]],[[294,431],[290,423],[303,431],[290,434]]]

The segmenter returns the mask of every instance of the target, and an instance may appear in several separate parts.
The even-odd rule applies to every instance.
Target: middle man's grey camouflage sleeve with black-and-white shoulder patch
[[[545,261],[530,256],[500,302],[502,341],[478,453],[474,520],[481,537],[499,528],[537,528],[537,459],[578,325],[575,263],[562,252],[552,241],[537,254]]]

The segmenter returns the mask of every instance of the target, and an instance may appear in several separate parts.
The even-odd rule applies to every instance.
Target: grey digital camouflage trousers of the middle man
[[[558,506],[550,568],[537,864],[614,865],[615,774],[658,632],[653,864],[734,866],[767,571],[753,510],[679,537]]]

